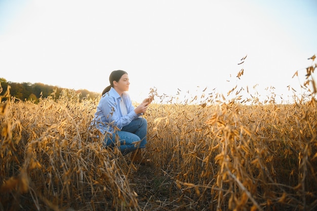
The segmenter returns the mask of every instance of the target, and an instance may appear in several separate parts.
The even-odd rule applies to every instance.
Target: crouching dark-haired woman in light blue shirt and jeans
[[[126,71],[114,70],[109,76],[110,85],[102,92],[92,124],[105,135],[105,145],[114,147],[117,140],[123,155],[130,152],[133,162],[146,163],[141,149],[147,143],[147,121],[141,115],[153,98],[149,97],[136,108],[132,105],[129,91],[129,76]]]

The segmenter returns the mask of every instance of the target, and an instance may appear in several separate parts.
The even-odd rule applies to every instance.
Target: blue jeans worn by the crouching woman
[[[128,154],[138,148],[145,148],[147,133],[147,121],[145,118],[138,117],[124,126],[121,131],[115,131],[112,136],[105,138],[105,145],[108,147],[116,146],[116,140],[120,141],[119,149],[123,155]]]

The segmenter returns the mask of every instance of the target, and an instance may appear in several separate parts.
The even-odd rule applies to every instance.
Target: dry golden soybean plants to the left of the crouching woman
[[[56,102],[39,104],[4,97],[0,210],[137,207],[127,162],[102,148],[100,134],[89,128],[97,102],[80,103],[66,90]]]

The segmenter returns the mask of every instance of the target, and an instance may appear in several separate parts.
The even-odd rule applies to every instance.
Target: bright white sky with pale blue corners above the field
[[[123,69],[133,100],[235,85],[287,99],[317,54],[316,11],[315,0],[0,0],[0,77],[102,92]]]

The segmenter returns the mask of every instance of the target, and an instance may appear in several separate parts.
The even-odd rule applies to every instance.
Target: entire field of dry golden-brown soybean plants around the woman
[[[103,147],[99,99],[64,90],[35,104],[0,87],[0,210],[315,210],[315,68],[292,103],[150,89],[148,165]]]

